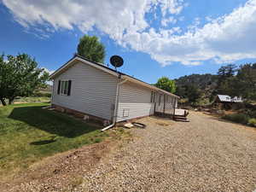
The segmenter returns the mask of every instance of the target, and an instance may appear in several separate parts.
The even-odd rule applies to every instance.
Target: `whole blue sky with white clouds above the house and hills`
[[[101,7],[101,9],[99,9]],[[96,35],[120,71],[148,83],[256,62],[256,0],[0,0],[0,52],[27,53],[50,72]]]

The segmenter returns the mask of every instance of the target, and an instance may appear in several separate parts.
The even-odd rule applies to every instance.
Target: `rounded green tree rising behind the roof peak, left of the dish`
[[[101,44],[96,36],[84,35],[80,38],[77,54],[84,56],[90,61],[104,62],[105,46]]]

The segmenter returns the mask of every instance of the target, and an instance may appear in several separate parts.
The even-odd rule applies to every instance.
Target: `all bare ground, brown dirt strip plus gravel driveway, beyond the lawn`
[[[0,191],[253,191],[256,130],[190,113],[189,123],[138,120],[132,139],[58,154]]]

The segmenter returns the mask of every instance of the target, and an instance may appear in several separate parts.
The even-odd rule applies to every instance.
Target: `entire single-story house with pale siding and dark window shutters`
[[[170,113],[179,98],[166,90],[75,55],[50,75],[52,105],[115,123]]]

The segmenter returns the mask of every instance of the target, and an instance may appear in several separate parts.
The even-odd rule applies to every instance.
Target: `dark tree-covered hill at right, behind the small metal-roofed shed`
[[[217,74],[191,74],[174,81],[175,94],[192,106],[210,104],[218,94],[256,101],[256,63],[229,64],[220,67]]]

